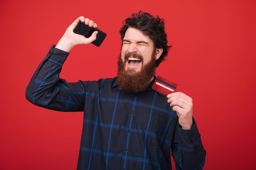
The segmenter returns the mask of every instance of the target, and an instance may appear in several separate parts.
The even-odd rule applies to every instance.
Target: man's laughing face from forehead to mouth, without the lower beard
[[[125,70],[139,72],[146,65],[154,52],[154,43],[150,37],[136,28],[128,28],[121,49],[121,59]]]

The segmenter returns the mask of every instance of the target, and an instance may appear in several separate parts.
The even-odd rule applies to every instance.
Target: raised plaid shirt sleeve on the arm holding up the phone
[[[67,83],[59,78],[68,52],[54,48],[39,64],[26,88],[26,98],[34,105],[57,111],[83,111],[85,91],[81,81]]]

